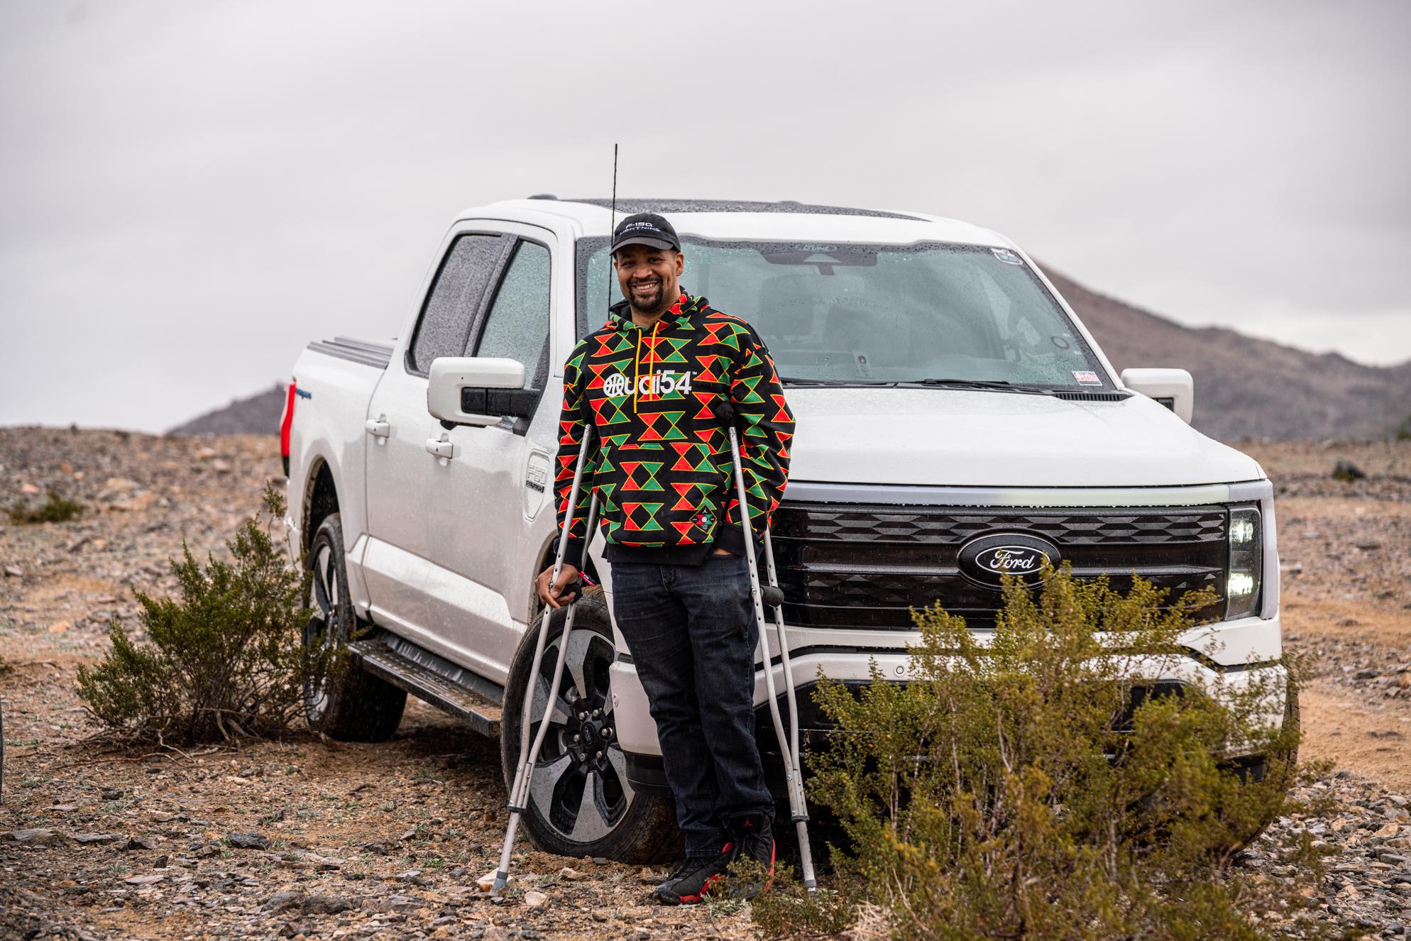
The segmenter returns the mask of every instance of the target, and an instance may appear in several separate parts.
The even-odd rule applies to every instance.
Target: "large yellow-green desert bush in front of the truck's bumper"
[[[865,886],[903,940],[1260,938],[1261,918],[1301,917],[1311,845],[1291,880],[1228,868],[1285,810],[1284,679],[1157,696],[1146,677],[1184,659],[1213,593],[1050,576],[1041,593],[1006,581],[989,642],[914,612],[906,684],[875,664],[859,688],[820,677],[837,734],[810,756],[810,791],[851,842],[834,882]],[[1242,780],[1243,753],[1287,762]],[[755,910],[770,934],[817,930],[787,896]]]

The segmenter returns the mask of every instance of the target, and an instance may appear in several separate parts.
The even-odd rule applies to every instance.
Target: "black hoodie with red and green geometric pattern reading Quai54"
[[[756,539],[789,478],[793,412],[759,334],[683,293],[649,329],[626,302],[573,348],[563,368],[555,505],[563,526],[586,418],[590,450],[566,561],[580,564],[591,490],[608,561],[700,564],[713,546],[744,554],[729,437],[711,413],[728,395]]]

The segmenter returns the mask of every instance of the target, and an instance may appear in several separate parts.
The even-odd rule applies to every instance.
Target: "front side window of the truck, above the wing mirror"
[[[525,388],[542,388],[549,350],[549,250],[521,241],[473,356],[495,356],[525,364]]]

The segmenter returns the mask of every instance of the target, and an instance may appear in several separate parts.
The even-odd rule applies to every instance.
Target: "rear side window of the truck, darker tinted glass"
[[[426,375],[436,357],[463,356],[471,320],[504,248],[499,236],[461,236],[452,243],[416,323],[406,360],[411,372]]]

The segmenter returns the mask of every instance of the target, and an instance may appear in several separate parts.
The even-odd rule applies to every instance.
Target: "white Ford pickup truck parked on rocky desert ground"
[[[796,413],[772,528],[806,736],[827,731],[809,696],[820,669],[865,683],[875,660],[904,680],[912,607],[938,600],[991,631],[1000,573],[1034,573],[1043,557],[1118,584],[1136,573],[1219,593],[1189,657],[1151,676],[1157,690],[1281,674],[1270,481],[1189,427],[1188,372],[1116,375],[1009,240],[923,213],[792,202],[617,210],[672,220],[682,284],[753,324]],[[281,430],[289,552],[315,571],[306,641],[346,643],[360,666],[306,691],[315,728],[389,736],[409,691],[498,735],[512,765],[543,624],[533,580],[557,532],[562,370],[617,299],[611,223],[601,199],[468,209],[396,339],[312,343],[295,364]],[[562,615],[547,619],[532,714],[552,734],[526,825],[552,852],[652,861],[677,837],[601,550],[588,547],[601,588],[579,602],[552,696]],[[763,669],[756,725],[777,779]],[[1264,756],[1243,760],[1264,773]]]

